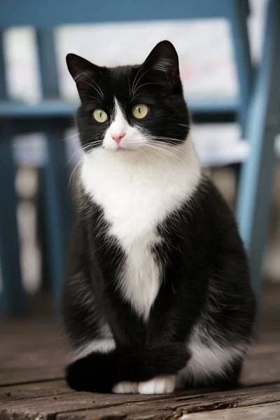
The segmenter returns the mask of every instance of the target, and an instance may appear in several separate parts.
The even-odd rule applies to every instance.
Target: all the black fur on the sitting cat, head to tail
[[[155,137],[175,136],[182,142],[186,139],[190,118],[183,99],[178,59],[171,44],[163,45],[163,52],[156,47],[141,67],[106,69],[78,56],[68,56],[69,71],[78,78],[81,105],[77,123],[83,146],[90,144],[94,148],[94,139],[104,135],[106,127],[94,123],[92,111],[102,107],[109,114],[110,123],[114,95],[132,125],[143,125]],[[170,69],[164,74],[159,69],[149,70],[148,66],[155,65],[158,55],[164,53],[171,63]],[[81,78],[81,71],[90,78]],[[135,104],[130,102],[130,87],[138,71],[143,74],[141,83],[146,85],[137,94],[151,105],[151,118],[140,122],[130,117]],[[102,87],[103,102],[88,85],[93,81]],[[137,103],[141,103],[139,97]],[[172,144],[169,139],[164,141]],[[193,197],[158,225],[162,243],[153,253],[164,269],[160,291],[146,322],[119,293],[117,274],[125,263],[125,255],[117,241],[106,237],[109,226],[102,208],[85,192],[80,202],[82,210],[78,214],[71,267],[64,287],[66,332],[73,348],[78,349],[90,340],[104,338],[105,327],[110,330],[116,349],[106,354],[91,353],[71,363],[66,368],[66,380],[72,388],[107,392],[118,381],[145,381],[178,372],[191,356],[186,344],[198,320],[203,344],[208,345],[211,340],[221,346],[250,342],[255,302],[246,253],[234,216],[209,179],[202,179]],[[237,357],[223,375],[201,379],[198,385],[236,384],[241,363]]]

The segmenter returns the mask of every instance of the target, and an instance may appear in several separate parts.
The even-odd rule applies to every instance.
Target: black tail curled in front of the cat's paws
[[[109,393],[120,381],[135,381],[135,378],[146,381],[162,374],[174,374],[186,365],[189,357],[187,349],[179,343],[155,348],[120,346],[108,354],[91,353],[76,360],[66,368],[66,381],[77,391]]]

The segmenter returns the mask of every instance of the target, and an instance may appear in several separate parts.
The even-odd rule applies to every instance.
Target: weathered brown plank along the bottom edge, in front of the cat
[[[66,393],[51,397],[3,402],[1,420],[89,420],[125,418],[129,414],[158,411],[158,415],[181,416],[187,412],[224,409],[278,402],[280,384],[239,389],[224,393],[179,395],[104,395],[93,393]],[[150,415],[150,414],[149,414]]]

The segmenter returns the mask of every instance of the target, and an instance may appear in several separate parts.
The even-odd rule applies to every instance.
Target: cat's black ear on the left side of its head
[[[92,83],[99,83],[102,69],[76,54],[67,54],[66,64],[69,73],[76,82],[80,99],[82,99],[83,93],[89,89]]]

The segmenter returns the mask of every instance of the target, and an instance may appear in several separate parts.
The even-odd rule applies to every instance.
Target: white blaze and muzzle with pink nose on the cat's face
[[[103,146],[106,150],[135,150],[146,144],[148,139],[137,126],[132,127],[125,118],[118,100],[115,98],[115,117],[105,133]]]

